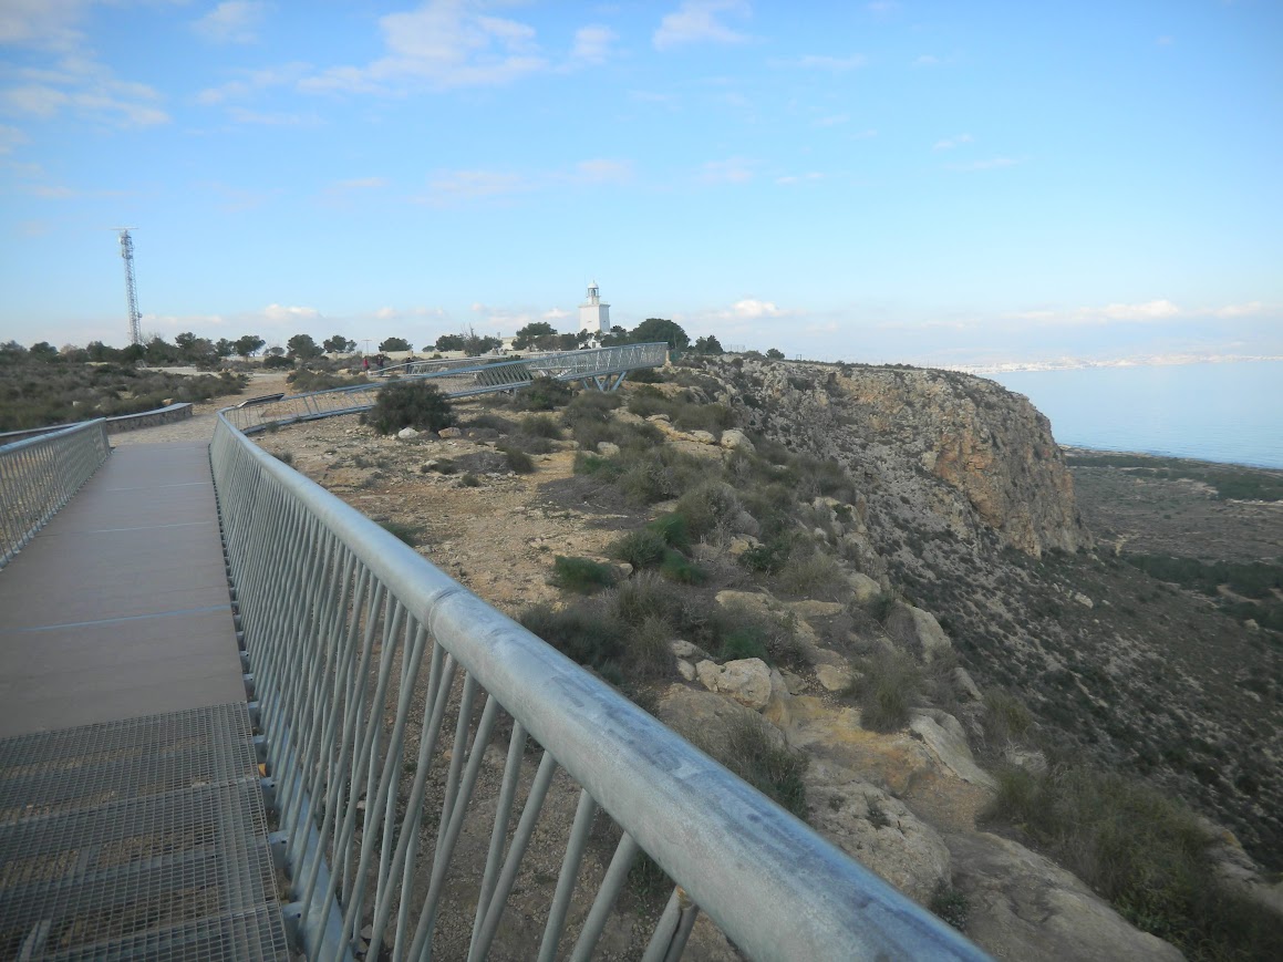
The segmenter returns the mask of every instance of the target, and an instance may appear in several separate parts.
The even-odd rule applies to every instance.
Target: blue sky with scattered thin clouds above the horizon
[[[1283,354],[1283,3],[0,0],[0,341]]]

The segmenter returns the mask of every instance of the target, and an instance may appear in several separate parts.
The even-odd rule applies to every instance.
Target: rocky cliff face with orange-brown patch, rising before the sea
[[[1051,423],[979,377],[898,367],[715,366],[747,423],[798,439],[930,505],[955,535],[992,530],[1034,557],[1088,546]],[[922,484],[938,478],[948,490]]]

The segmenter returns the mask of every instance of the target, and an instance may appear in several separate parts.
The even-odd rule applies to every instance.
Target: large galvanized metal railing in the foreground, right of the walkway
[[[479,959],[506,911],[541,922],[527,936],[530,958],[563,957],[566,943],[568,958],[586,959],[639,852],[677,886],[647,962],[679,958],[699,911],[754,959],[984,958],[603,681],[262,451],[228,413],[210,446],[214,484],[275,781],[273,847],[291,880],[287,918],[310,959],[361,950]],[[579,802],[554,850],[561,871],[556,884],[553,872],[531,880],[523,858],[550,789],[571,790],[566,775]],[[604,857],[584,866],[585,850],[600,844],[599,809],[618,839],[604,871]],[[576,897],[581,873],[595,886],[586,909],[589,893]],[[521,906],[512,907],[518,881]],[[448,921],[446,909],[466,915]]]

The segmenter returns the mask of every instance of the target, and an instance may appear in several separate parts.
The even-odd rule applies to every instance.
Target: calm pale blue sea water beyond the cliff
[[[1283,360],[985,375],[1061,444],[1283,468]]]

